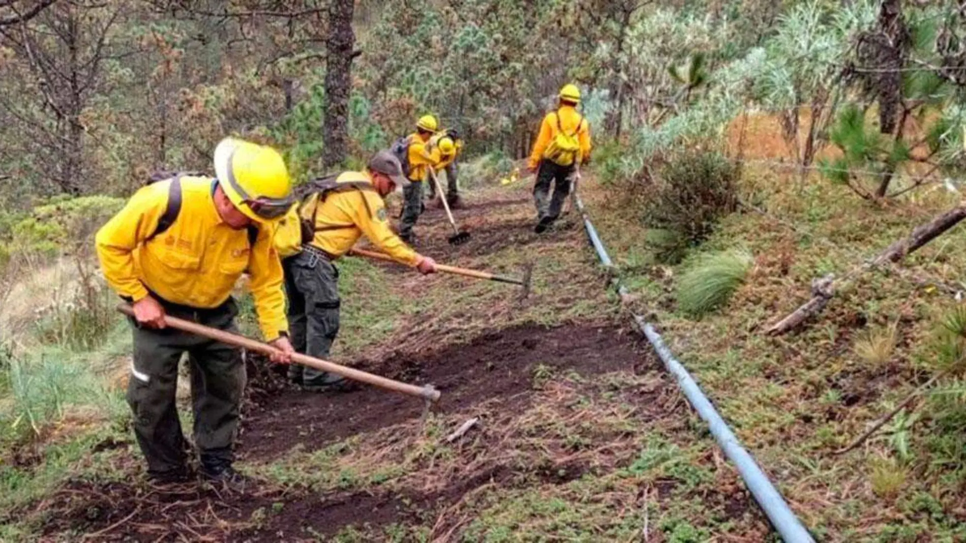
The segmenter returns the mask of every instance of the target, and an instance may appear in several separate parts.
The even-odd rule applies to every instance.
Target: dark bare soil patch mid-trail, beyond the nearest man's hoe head
[[[442,392],[437,413],[505,398],[503,410],[525,402],[534,372],[574,370],[593,377],[632,370],[644,350],[639,340],[612,326],[529,325],[481,335],[466,345],[429,353],[395,354],[364,369]],[[543,369],[546,368],[546,369]],[[289,391],[254,407],[243,425],[239,450],[249,460],[270,461],[300,445],[312,451],[342,438],[418,417],[415,398],[366,387],[344,394]]]

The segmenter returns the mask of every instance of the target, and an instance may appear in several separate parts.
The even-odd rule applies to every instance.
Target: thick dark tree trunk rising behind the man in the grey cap
[[[346,159],[349,137],[349,93],[352,91],[354,0],[331,0],[326,41],[326,110],[323,119],[323,167]]]

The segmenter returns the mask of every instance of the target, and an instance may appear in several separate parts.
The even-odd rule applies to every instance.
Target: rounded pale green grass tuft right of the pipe
[[[701,317],[725,305],[745,281],[752,262],[752,255],[744,250],[701,255],[678,281],[678,307],[693,317]]]

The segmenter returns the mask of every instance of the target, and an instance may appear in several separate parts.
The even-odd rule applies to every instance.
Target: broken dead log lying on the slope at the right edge
[[[964,218],[966,218],[966,205],[959,205],[944,214],[939,214],[929,222],[916,227],[908,238],[889,245],[886,250],[879,253],[878,256],[864,264],[861,268],[869,270],[883,265],[894,264],[924,244],[936,239]],[[851,275],[850,273],[848,276]],[[765,333],[768,335],[781,335],[782,333],[798,328],[809,318],[821,313],[829,303],[829,300],[832,300],[836,291],[840,288],[841,285],[837,283],[831,274],[821,279],[813,280],[811,282],[811,300],[805,302],[798,309],[781,319],[781,321],[765,330]]]

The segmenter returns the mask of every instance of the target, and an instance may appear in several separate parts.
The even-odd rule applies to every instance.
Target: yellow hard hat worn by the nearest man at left
[[[214,173],[232,204],[256,222],[281,218],[295,202],[285,159],[268,146],[225,138],[214,149]]]

